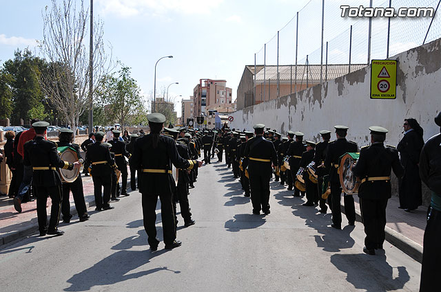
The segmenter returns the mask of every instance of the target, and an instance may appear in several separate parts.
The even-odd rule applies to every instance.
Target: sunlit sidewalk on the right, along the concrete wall
[[[361,220],[360,203],[358,196],[353,196],[356,205],[357,221]],[[398,247],[418,262],[422,261],[422,242],[426,228],[427,207],[420,206],[412,212],[398,209],[398,196],[392,196],[386,209],[386,240]],[[342,212],[345,208],[342,205]]]

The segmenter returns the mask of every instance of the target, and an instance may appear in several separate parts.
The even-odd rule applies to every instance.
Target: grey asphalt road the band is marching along
[[[343,215],[345,227],[331,229],[330,214],[277,182],[271,214],[253,215],[231,168],[199,173],[189,197],[196,225],[179,217],[181,247],[150,251],[141,195],[131,192],[90,221],[61,223],[63,236],[0,249],[1,291],[418,291],[421,265],[389,244],[363,254],[361,223],[345,226]],[[162,240],[161,216],[157,227]]]

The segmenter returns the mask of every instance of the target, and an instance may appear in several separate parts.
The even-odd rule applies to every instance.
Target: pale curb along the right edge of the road
[[[340,205],[340,208],[343,213],[345,213],[345,206]],[[356,209],[356,221],[362,222],[360,211]],[[406,236],[400,234],[399,232],[396,232],[395,230],[391,229],[390,227],[384,228],[384,233],[386,235],[386,240],[391,245],[397,247],[400,249],[404,254],[407,254],[413,260],[416,260],[417,262],[422,263],[422,246],[418,245],[418,243],[414,242],[413,240],[410,240]]]

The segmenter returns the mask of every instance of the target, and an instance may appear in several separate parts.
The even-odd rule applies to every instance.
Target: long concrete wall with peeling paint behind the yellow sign
[[[348,139],[358,146],[369,144],[368,127],[389,129],[386,144],[402,138],[406,117],[424,128],[424,140],[439,133],[433,117],[441,110],[441,39],[394,56],[398,60],[397,98],[369,98],[371,67],[365,67],[322,85],[249,106],[232,113],[232,128],[252,129],[263,123],[281,133],[302,131],[305,139],[318,141],[320,130],[349,126]]]

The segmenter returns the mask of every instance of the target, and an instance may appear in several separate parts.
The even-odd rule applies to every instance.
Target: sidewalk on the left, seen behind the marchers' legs
[[[83,174],[81,174],[83,175]],[[82,177],[84,199],[88,211],[95,205],[94,201],[94,185],[92,177]],[[10,243],[13,240],[28,236],[38,232],[37,223],[37,200],[21,204],[23,212],[18,213],[14,209],[13,199],[8,196],[0,196],[0,246]],[[48,199],[48,208],[46,210],[48,218],[50,217],[50,199]],[[70,213],[76,215],[76,209],[72,193],[70,194]],[[78,217],[74,216],[73,221],[78,221]],[[63,223],[60,223],[62,226]]]

